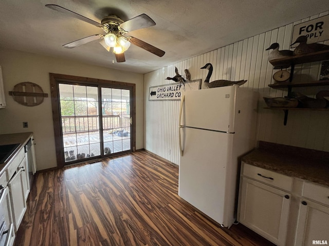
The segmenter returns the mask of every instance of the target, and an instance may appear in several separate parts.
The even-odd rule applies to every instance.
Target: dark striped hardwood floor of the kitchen
[[[273,245],[178,196],[178,167],[138,151],[36,175],[15,245]]]

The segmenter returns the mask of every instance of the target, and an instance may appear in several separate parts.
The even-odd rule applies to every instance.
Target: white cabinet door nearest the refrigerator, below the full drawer
[[[290,194],[242,178],[239,222],[277,245],[285,245]]]

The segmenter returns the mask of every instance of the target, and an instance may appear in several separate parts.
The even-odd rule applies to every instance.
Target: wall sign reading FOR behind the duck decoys
[[[329,15],[308,20],[294,26],[291,44],[296,41],[299,36],[307,36],[307,44],[318,43],[329,39]],[[297,47],[298,44],[292,46]]]

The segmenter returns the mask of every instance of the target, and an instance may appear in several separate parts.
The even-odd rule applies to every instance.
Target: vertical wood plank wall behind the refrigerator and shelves
[[[178,68],[180,74],[184,74],[184,70],[189,69],[191,79],[202,79],[203,83],[208,70],[200,68],[206,63],[212,63],[214,70],[211,80],[248,79],[243,86],[259,92],[257,140],[329,151],[329,112],[289,111],[287,125],[284,126],[283,111],[263,109],[266,107],[263,96],[281,97],[287,93],[286,90],[275,90],[268,87],[269,84],[274,83],[272,75],[278,70],[273,70],[273,66],[268,63],[269,51],[265,49],[276,42],[280,44],[280,50],[289,49],[294,25],[328,13],[329,11],[326,11],[310,16],[145,74],[144,148],[179,165],[178,114],[180,101],[149,101],[149,87],[172,83],[171,80],[165,80],[165,78],[174,75],[175,67]],[[324,44],[329,45],[329,41],[325,41]],[[320,62],[314,62],[296,66],[294,80],[317,80],[320,65]],[[329,90],[329,88],[294,89],[294,91],[312,97],[320,90]]]

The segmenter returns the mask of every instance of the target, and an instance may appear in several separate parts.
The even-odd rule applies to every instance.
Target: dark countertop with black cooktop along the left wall
[[[29,138],[33,135],[33,132],[22,132],[22,133],[13,133],[13,134],[1,134],[0,135],[0,145],[10,145],[10,144],[20,144],[20,146],[11,154],[8,160],[5,163],[0,164],[0,175],[5,172],[7,169],[7,164],[11,158],[15,157],[17,152],[23,148]]]

